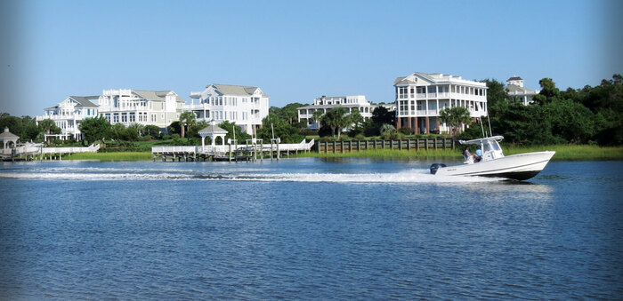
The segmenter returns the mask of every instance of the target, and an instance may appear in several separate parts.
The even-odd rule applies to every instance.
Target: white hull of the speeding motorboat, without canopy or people
[[[446,176],[479,176],[525,180],[543,170],[555,152],[512,154],[498,159],[440,167],[435,174]]]

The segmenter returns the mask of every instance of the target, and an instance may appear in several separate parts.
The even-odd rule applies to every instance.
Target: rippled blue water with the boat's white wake
[[[430,163],[4,163],[0,298],[623,296],[623,162]]]

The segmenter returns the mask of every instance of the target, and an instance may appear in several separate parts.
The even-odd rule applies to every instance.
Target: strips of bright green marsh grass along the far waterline
[[[521,154],[538,151],[555,151],[556,154],[552,161],[621,161],[623,160],[623,147],[598,147],[598,146],[547,146],[547,147],[514,147],[506,146],[505,154]],[[282,156],[282,158],[417,158],[417,159],[460,159],[461,153],[451,149],[428,149],[428,150],[397,150],[397,149],[376,149],[362,150],[352,153],[302,153]],[[102,162],[115,161],[152,161],[151,152],[111,152],[111,153],[79,153],[70,154],[62,160],[97,160]]]

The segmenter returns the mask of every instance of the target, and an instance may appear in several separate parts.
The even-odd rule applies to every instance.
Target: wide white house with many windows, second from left
[[[98,99],[100,115],[111,124],[139,123],[161,129],[180,119],[185,103],[171,90],[104,90]]]

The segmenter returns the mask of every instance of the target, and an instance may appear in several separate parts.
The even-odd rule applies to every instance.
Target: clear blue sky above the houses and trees
[[[393,101],[412,72],[522,76],[538,89],[623,73],[618,1],[4,1],[0,112],[103,89],[258,86],[271,106]]]

